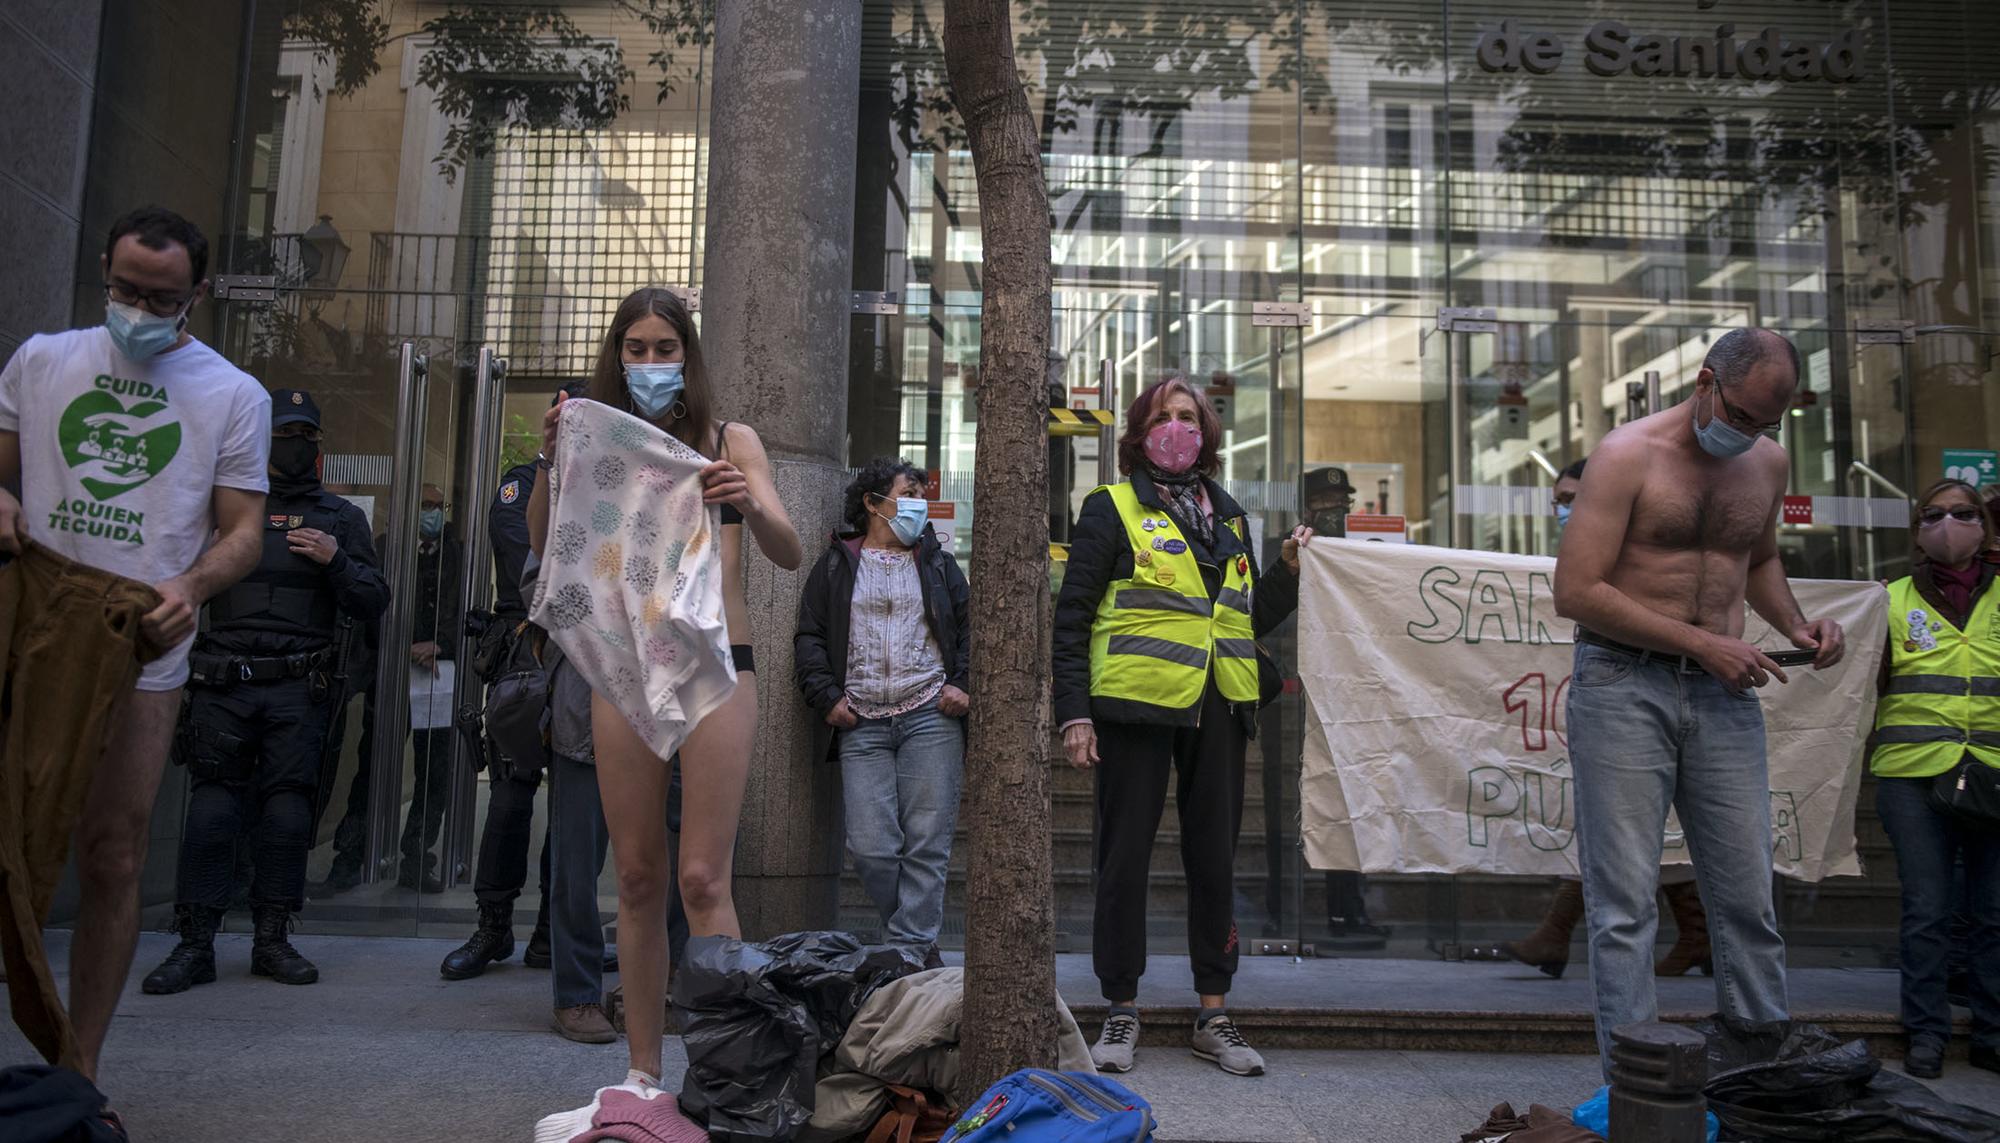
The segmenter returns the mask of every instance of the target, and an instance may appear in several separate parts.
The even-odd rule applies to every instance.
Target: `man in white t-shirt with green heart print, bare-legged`
[[[144,629],[174,647],[118,709],[76,825],[70,1019],[92,1079],[138,941],[146,827],[194,617],[256,566],[270,488],[270,396],[188,336],[208,288],[202,232],[134,210],[112,224],[102,268],[106,324],[28,338],[0,372],[0,552],[34,540],[152,583],[164,601]]]

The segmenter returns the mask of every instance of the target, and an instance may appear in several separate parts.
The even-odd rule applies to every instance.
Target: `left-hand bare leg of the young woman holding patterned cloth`
[[[666,1035],[666,789],[672,767],[632,731],[632,723],[590,695],[590,737],[598,793],[618,867],[618,971],[624,985],[626,1051],[632,1067],[660,1075]],[[686,781],[686,777],[682,777]],[[686,809],[682,811],[686,821]],[[696,929],[700,931],[700,929]]]

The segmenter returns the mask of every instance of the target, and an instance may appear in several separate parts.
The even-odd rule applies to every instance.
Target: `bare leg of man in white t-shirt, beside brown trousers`
[[[118,1011],[138,943],[138,875],[160,773],[174,741],[180,689],[134,691],[112,711],[104,759],[76,823],[76,871],[82,899],[70,939],[70,1021],[84,1053],[84,1075],[98,1077],[98,1053]]]

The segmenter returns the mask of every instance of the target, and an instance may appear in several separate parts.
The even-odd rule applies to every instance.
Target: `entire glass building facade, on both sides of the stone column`
[[[338,454],[328,480],[378,534],[412,508],[394,486],[400,442],[462,526],[492,494],[476,478],[532,454],[534,418],[588,368],[618,298],[700,288],[716,98],[708,28],[690,16],[702,6],[188,8],[188,28],[150,14],[158,26],[106,32],[86,230],[144,198],[198,202],[190,216],[220,236],[214,270],[276,294],[232,288],[200,332],[266,384],[318,396]],[[346,8],[386,24],[334,18]],[[1170,372],[1208,386],[1224,484],[1260,546],[1300,520],[1302,476],[1338,466],[1352,508],[1404,516],[1414,542],[1550,554],[1554,474],[1648,394],[1680,400],[1706,344],[1736,326],[1784,332],[1806,368],[1782,430],[1792,492],[1814,498],[1814,524],[1782,530],[1794,575],[1900,575],[1906,496],[1944,476],[1948,450],[2000,442],[2000,26],[1974,0],[1016,10],[1054,216],[1050,402],[1122,410]],[[862,22],[848,460],[930,468],[950,504],[938,524],[976,568],[980,214],[948,110],[942,2],[866,0]],[[138,92],[170,86],[142,66],[152,46],[196,32],[206,58],[236,60],[236,84],[206,76],[214,90],[190,88],[202,106],[166,120],[222,116],[226,138],[134,110]],[[190,174],[148,188],[134,170]],[[84,254],[76,318],[92,322]],[[400,406],[404,344],[428,382]],[[482,416],[480,350],[506,362],[498,420]],[[1052,436],[1050,456],[1062,540],[1104,480],[1100,438]],[[490,587],[474,572],[452,575],[478,597]],[[1292,661],[1284,637],[1278,649]],[[368,763],[364,705],[348,709],[312,875]],[[1392,955],[1462,955],[1534,923],[1540,881],[1358,885],[1306,869],[1300,699],[1264,717],[1238,855],[1246,937],[1326,943],[1328,913],[1352,911],[1354,893],[1392,925]],[[444,785],[420,771],[406,749],[400,791],[376,797],[376,855],[394,857],[400,815],[444,799],[452,887],[412,895],[390,877],[314,903],[308,927],[470,923],[484,789],[464,765]],[[1060,771],[1072,949],[1090,937],[1090,803],[1088,779]],[[1864,791],[1868,877],[1784,885],[1796,959],[1892,953],[1894,879],[1870,805]],[[148,871],[158,911],[178,811],[170,787]],[[956,877],[950,899],[948,943]],[[864,901],[858,885],[842,893],[842,921],[862,931]],[[1160,951],[1180,947],[1180,905],[1168,817]]]

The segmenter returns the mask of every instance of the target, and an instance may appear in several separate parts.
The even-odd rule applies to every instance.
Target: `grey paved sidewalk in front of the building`
[[[66,935],[50,939],[62,963]],[[548,975],[518,957],[448,983],[436,965],[454,941],[304,937],[304,945],[322,967],[318,985],[250,977],[250,939],[226,935],[216,945],[218,983],[148,997],[138,975],[172,937],[142,937],[104,1061],[106,1091],[136,1141],[528,1139],[540,1115],[576,1107],[624,1075],[622,1045],[586,1047],[548,1031]],[[1380,973],[1382,987],[1398,977],[1396,965],[1350,965]],[[1064,961],[1062,975],[1074,995],[1074,965]],[[1160,1001],[1178,1003],[1168,983],[1158,985]],[[1148,985],[1150,995],[1152,975]],[[1410,991],[1400,989],[1404,1007]],[[0,1025],[0,1063],[32,1059],[12,1025]],[[1156,1043],[1122,1079],[1152,1101],[1162,1143],[1452,1143],[1494,1103],[1566,1107],[1598,1083],[1588,1055],[1268,1051],[1266,1059],[1268,1075],[1238,1079],[1178,1043]],[[680,1063],[668,1041],[668,1071]],[[1964,1063],[1948,1065],[1938,1089],[2000,1109],[2000,1077]]]

